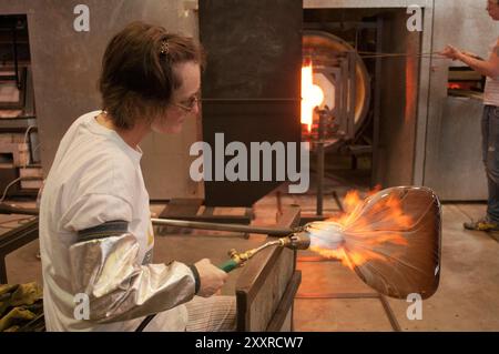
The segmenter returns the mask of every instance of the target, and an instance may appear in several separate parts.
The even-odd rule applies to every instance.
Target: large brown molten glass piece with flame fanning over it
[[[306,226],[310,250],[336,257],[387,296],[431,296],[440,279],[440,202],[427,188],[398,186],[346,199],[338,220]]]

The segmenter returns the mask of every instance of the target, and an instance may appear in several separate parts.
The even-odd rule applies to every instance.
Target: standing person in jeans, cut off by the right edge
[[[495,21],[499,20],[499,0],[488,0],[487,11]],[[487,173],[487,214],[478,221],[466,222],[468,230],[499,231],[499,38],[490,45],[488,60],[447,45],[441,55],[459,60],[487,77],[483,92],[482,160]]]

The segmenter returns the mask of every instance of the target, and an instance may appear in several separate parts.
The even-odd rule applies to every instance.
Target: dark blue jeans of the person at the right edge
[[[499,107],[486,105],[481,119],[482,159],[489,200],[487,219],[499,223]]]

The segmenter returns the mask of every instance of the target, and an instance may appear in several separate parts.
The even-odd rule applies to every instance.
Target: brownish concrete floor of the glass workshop
[[[340,194],[344,191],[339,189]],[[315,198],[283,198],[283,205],[292,203],[312,211]],[[154,208],[161,210],[160,206]],[[325,209],[332,212],[337,210],[332,198],[326,199]],[[406,301],[388,299],[388,307],[403,331],[499,331],[499,239],[462,229],[464,221],[485,213],[485,205],[446,204],[442,209],[442,270],[437,293],[422,303],[421,320],[407,318],[406,311],[410,304]],[[254,211],[255,223],[274,224],[274,194],[258,201]],[[0,232],[17,223],[6,223],[8,221],[7,216],[0,215],[0,227],[3,227]],[[201,257],[211,257],[216,264],[226,260],[227,250],[246,250],[263,241],[259,235],[251,235],[246,240],[237,234],[210,234],[156,235],[154,259],[156,262],[172,259],[195,262]],[[374,295],[374,292],[355,273],[338,262],[317,262],[316,257],[310,257],[310,252],[301,252],[297,266],[303,272],[303,282],[295,300],[295,331],[393,331],[380,300],[361,297]],[[41,283],[37,253],[38,242],[34,241],[8,255],[9,283]],[[231,273],[224,293],[233,291],[236,277],[237,271]],[[358,299],[317,299],[345,293],[356,294]]]

